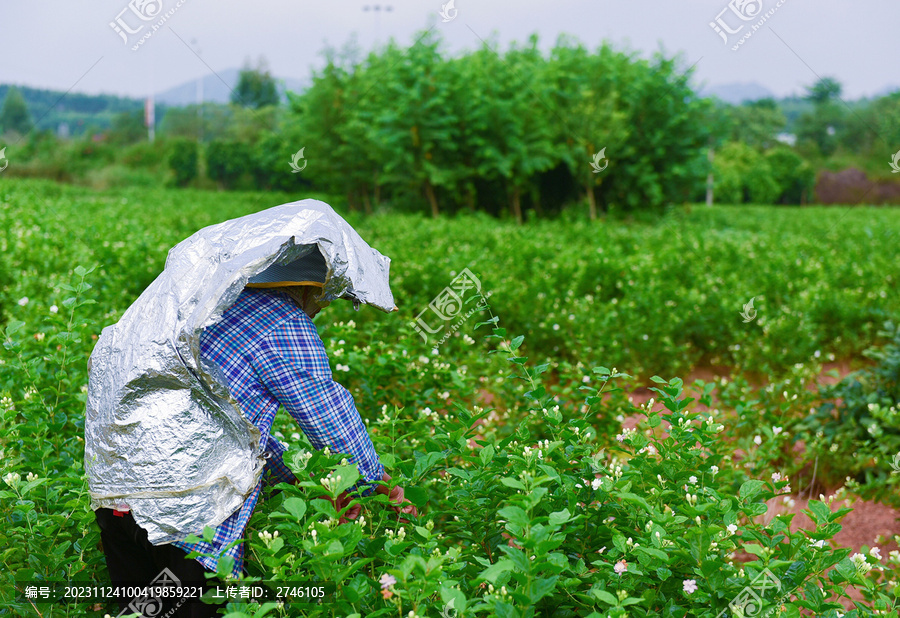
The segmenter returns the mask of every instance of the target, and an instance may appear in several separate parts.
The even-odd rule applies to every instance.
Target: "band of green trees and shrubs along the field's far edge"
[[[900,93],[849,108],[826,78],[789,118],[773,100],[700,97],[678,58],[659,53],[565,37],[548,52],[536,37],[458,56],[441,48],[428,32],[365,55],[326,50],[286,105],[264,65],[248,65],[231,105],[165,110],[157,143],[146,142],[140,110],[63,146],[32,131],[16,173],[100,185],[165,174],[176,186],[316,190],[367,212],[388,204],[523,221],[573,203],[597,218],[702,201],[710,177],[718,202],[806,203],[818,170],[848,153],[876,169],[890,139],[900,148]],[[795,143],[783,143],[785,131]]]

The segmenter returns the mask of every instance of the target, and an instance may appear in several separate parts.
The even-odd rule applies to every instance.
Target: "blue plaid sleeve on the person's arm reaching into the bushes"
[[[317,449],[351,455],[363,479],[380,480],[384,466],[353,397],[334,381],[325,346],[305,314],[281,321],[257,349],[260,381],[297,421]]]

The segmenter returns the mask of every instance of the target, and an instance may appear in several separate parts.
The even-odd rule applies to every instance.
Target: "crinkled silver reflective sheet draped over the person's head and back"
[[[240,508],[265,460],[200,333],[247,280],[317,249],[323,300],[396,310],[390,259],[328,204],[302,200],[204,228],[169,251],[165,270],[103,329],[89,361],[84,425],[91,506],[130,507],[154,544],[200,534]]]

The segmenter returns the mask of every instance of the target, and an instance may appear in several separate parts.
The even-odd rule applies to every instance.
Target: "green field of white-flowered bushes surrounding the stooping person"
[[[81,439],[86,360],[100,330],[178,241],[291,199],[0,182],[0,615],[97,614],[86,604],[36,613],[12,590],[37,579],[108,581]],[[761,516],[764,500],[791,493],[787,481],[800,485],[769,479],[800,474],[806,463],[786,459],[821,404],[805,381],[828,360],[859,359],[890,339],[885,324],[900,317],[900,212],[693,206],[650,221],[569,214],[516,225],[336,208],[392,259],[400,311],[354,312],[336,301],[316,323],[336,379],[423,515],[401,526],[364,499],[364,526],[337,525],[327,503],[311,499],[321,485],[286,489],[254,516],[253,575],[337,582],[340,598],[318,611],[339,616],[438,615],[453,599],[459,616],[712,618],[764,567],[815,615],[837,616],[826,599],[853,587],[871,591],[847,616],[874,615],[876,603],[895,598],[884,582],[896,572],[867,572],[849,550],[830,547],[842,513],[827,503],[811,501],[820,528],[809,538],[781,516]],[[464,268],[490,292],[490,309],[435,348],[412,324]],[[721,409],[712,413],[686,399],[678,379],[701,368],[733,376],[691,395],[712,407],[717,387]],[[760,379],[777,388],[754,390]],[[612,385],[653,386],[658,404],[642,410],[621,392],[598,392]],[[623,432],[620,414],[644,414],[639,431]],[[894,435],[892,414],[894,425],[882,429]],[[306,457],[298,430],[276,423],[293,468],[321,477],[339,466],[339,457]],[[671,424],[667,434],[662,423]],[[831,451],[836,479],[856,474],[842,458],[867,448],[856,437],[845,442]],[[808,446],[818,448],[812,438]],[[737,449],[750,455],[738,462]],[[886,474],[879,487],[895,490]],[[275,530],[275,541],[257,535]],[[740,564],[739,554],[750,561]],[[385,573],[397,580],[387,599]],[[785,615],[800,615],[799,601],[787,606]],[[267,615],[247,604],[233,611]]]

